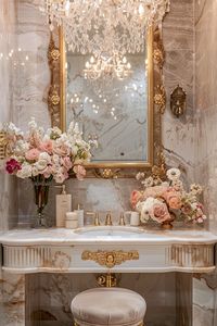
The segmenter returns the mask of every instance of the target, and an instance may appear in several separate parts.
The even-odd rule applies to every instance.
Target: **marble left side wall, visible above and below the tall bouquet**
[[[11,57],[16,46],[15,3],[2,0],[0,5],[0,128],[1,124],[13,118],[13,96],[11,92],[14,77]],[[0,230],[17,224],[16,181],[4,174],[0,166]]]

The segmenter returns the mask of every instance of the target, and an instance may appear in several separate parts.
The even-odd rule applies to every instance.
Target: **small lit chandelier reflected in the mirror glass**
[[[92,55],[90,60],[86,62],[84,73],[85,78],[90,80],[97,80],[99,78],[117,78],[123,80],[128,77],[132,71],[127,58],[115,53],[111,57],[104,54],[95,58]]]

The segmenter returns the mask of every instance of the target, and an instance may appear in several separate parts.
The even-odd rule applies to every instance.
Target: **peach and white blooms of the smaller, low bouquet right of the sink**
[[[133,190],[131,205],[141,215],[141,222],[153,220],[162,225],[169,225],[175,218],[193,223],[203,223],[206,215],[197,198],[202,193],[200,185],[191,185],[186,191],[180,180],[181,173],[178,168],[170,168],[166,173],[167,180],[161,178],[144,178],[143,173],[137,174],[144,190]]]

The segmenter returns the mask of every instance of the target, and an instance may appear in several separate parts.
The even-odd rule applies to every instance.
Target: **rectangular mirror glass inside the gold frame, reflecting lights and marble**
[[[66,53],[66,125],[74,120],[86,139],[98,140],[94,162],[148,161],[146,52]]]

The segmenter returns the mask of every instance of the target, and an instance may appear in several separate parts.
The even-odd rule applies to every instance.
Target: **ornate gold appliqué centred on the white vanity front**
[[[139,252],[136,250],[124,252],[119,251],[101,251],[97,252],[84,251],[81,254],[82,261],[94,261],[101,266],[113,268],[116,265],[120,265],[126,261],[139,260]]]

